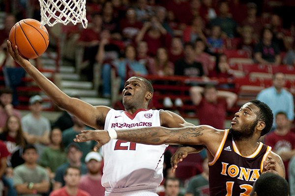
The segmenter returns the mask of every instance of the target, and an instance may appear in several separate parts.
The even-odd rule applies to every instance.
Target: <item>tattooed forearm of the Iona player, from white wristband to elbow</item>
[[[198,136],[204,133],[203,126],[182,128],[148,127],[117,131],[117,139],[142,144],[187,144],[200,145]]]

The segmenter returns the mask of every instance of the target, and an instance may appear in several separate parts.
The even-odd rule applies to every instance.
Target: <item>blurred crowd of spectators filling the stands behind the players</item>
[[[74,62],[76,49],[82,48],[81,74],[93,81],[93,74],[98,74],[93,72],[97,63],[101,68],[100,92],[105,98],[111,97],[112,69],[116,70],[120,78],[120,89],[123,88],[125,79],[133,74],[180,75],[204,80],[212,77],[234,78],[224,53],[228,49],[246,51],[255,63],[295,66],[295,21],[267,2],[268,0],[256,2],[258,4],[251,0],[87,0],[88,28],[83,29],[77,25],[72,30],[64,30],[65,49],[69,48],[69,44],[74,49],[63,51],[63,58]],[[288,3],[295,7],[295,3]],[[25,12],[21,12],[26,10],[26,5],[21,1],[17,5],[22,9],[5,7],[7,15],[4,28],[0,29],[0,53],[4,56],[0,59],[0,67],[3,73],[7,73],[9,68],[18,67],[5,50],[5,40],[11,26],[15,21],[27,17]],[[0,3],[0,6],[3,7],[3,4]],[[34,4],[32,17],[38,19],[38,16],[38,4]],[[70,42],[72,40],[74,44]],[[37,67],[41,66],[39,60],[36,63]],[[273,87],[259,94],[259,99],[265,98],[264,101],[268,101],[270,96],[264,96],[266,91],[281,92],[285,83],[281,84],[279,80],[282,78],[277,76],[284,77],[275,75]],[[95,193],[99,196],[99,191],[103,195],[103,188],[99,186],[103,158],[90,152],[95,142],[71,143],[77,133],[89,127],[67,112],[50,124],[41,115],[42,98],[39,96],[30,98],[30,113],[22,117],[13,108],[14,83],[6,84],[12,90],[1,89],[0,94],[0,140],[7,148],[2,148],[0,143],[0,175],[5,187],[4,193],[9,196],[39,196],[49,195],[53,191],[52,196],[55,196],[66,191],[88,196],[86,191],[90,195]],[[230,89],[231,86],[224,85],[222,88]],[[284,90],[282,92],[287,94]],[[236,94],[224,93],[210,85],[205,88],[193,87],[190,93],[197,111],[207,114],[202,116],[200,122],[224,128],[227,109],[234,105]],[[288,98],[292,99],[290,96],[292,95],[288,94]],[[268,104],[273,104],[275,108],[276,121],[273,125],[274,132],[266,136],[266,144],[274,147],[282,156],[286,167],[289,161],[293,163],[289,167],[292,174],[289,177],[294,181],[294,171],[290,168],[295,165],[294,159],[292,161],[295,146],[293,140],[288,144],[285,141],[286,138],[294,137],[290,131],[294,120],[294,105],[291,107],[284,101],[279,101],[286,106],[286,111],[281,111],[283,107],[279,107],[276,101],[269,101]],[[216,115],[216,108],[220,118],[212,121],[210,116],[213,112]],[[207,163],[206,159],[204,163]],[[200,179],[202,183],[198,186],[206,189],[204,194],[207,193],[205,166],[206,164],[203,173],[188,182],[187,196],[197,194],[194,193],[197,186],[194,181]],[[33,173],[33,178],[19,174],[24,171],[27,175]],[[174,177],[174,174],[169,175],[172,176],[166,177]],[[172,181],[178,183],[177,180]],[[91,183],[93,186],[90,186]],[[97,190],[94,190],[94,184]]]

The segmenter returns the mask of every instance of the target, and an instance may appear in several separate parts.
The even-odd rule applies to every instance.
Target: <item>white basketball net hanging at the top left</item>
[[[82,23],[87,28],[86,0],[39,0],[41,24],[53,26],[57,23]]]

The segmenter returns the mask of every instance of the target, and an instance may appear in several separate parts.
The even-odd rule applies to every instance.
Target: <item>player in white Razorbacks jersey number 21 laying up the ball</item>
[[[193,125],[170,111],[144,111],[148,109],[148,103],[153,96],[153,88],[150,82],[143,77],[133,76],[126,81],[122,92],[125,111],[115,111],[107,106],[92,106],[78,98],[67,96],[40,73],[29,60],[20,56],[17,47],[12,49],[9,41],[7,41],[7,48],[13,59],[26,70],[54,103],[92,128],[108,128],[115,121],[118,122],[118,126],[123,126],[125,123],[128,128],[149,125],[173,128]],[[145,115],[142,116],[143,113]],[[121,121],[120,118],[124,120]],[[129,121],[131,119],[134,122]],[[106,195],[157,196],[155,188],[162,180],[163,167],[163,157],[160,154],[163,154],[164,150],[165,146],[152,147],[112,141],[109,149],[107,147],[103,149],[106,162],[102,182],[106,188]],[[121,161],[118,162],[118,160]]]

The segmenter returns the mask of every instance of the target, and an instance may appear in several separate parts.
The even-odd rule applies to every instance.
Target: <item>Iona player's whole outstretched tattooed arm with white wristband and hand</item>
[[[110,133],[110,136],[109,136]],[[148,127],[137,129],[115,129],[82,131],[76,135],[75,142],[86,142],[95,140],[97,147],[101,147],[110,139],[120,139],[130,142],[137,142],[149,145],[161,144],[186,144],[204,145],[215,154],[219,142],[223,137],[223,131],[214,129],[211,126],[187,126],[182,128]]]

